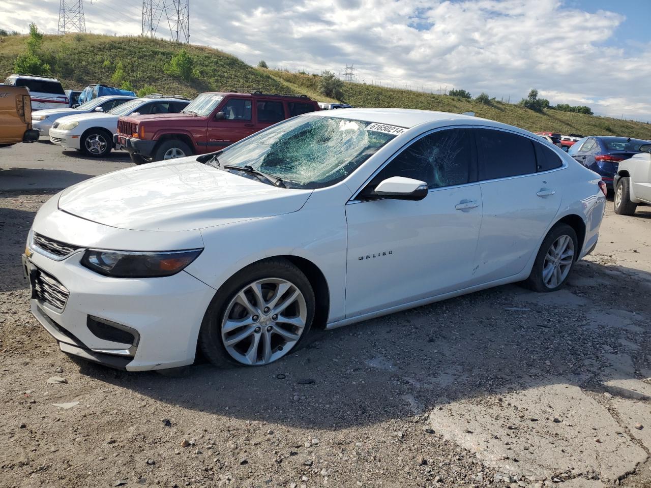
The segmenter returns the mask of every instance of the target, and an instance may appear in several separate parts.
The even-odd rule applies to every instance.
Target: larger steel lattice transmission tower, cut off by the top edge
[[[189,0],[143,0],[143,30],[146,37],[155,37],[158,24],[167,18],[173,41],[190,42],[190,6]]]

